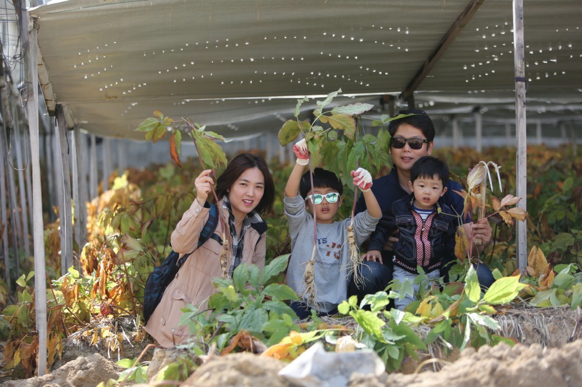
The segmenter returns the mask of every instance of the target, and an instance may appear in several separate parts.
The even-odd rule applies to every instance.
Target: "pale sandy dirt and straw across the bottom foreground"
[[[446,359],[439,372],[431,370],[432,364],[423,367],[424,372],[413,373],[417,364],[404,367],[410,374],[384,374],[382,377],[365,377],[354,374],[350,386],[364,387],[529,387],[551,385],[552,387],[580,386],[582,382],[582,338],[578,311],[569,308],[545,310],[513,310],[499,316],[502,321],[502,335],[513,337],[526,345],[509,347],[501,344],[495,347],[472,348]],[[575,340],[572,343],[569,341]],[[141,346],[140,346],[141,347]],[[89,348],[68,348],[63,356],[69,361],[49,375],[20,381],[8,381],[0,387],[94,387],[101,381],[117,379],[121,369],[101,354],[87,354]],[[141,348],[139,348],[141,350]],[[168,352],[170,351],[170,352]],[[83,353],[84,352],[84,353]],[[132,353],[135,352],[135,353]],[[124,357],[138,356],[138,348],[132,348]],[[84,356],[83,356],[84,355]],[[107,354],[104,354],[107,356]],[[175,355],[171,350],[159,351],[154,356],[148,370],[148,378],[153,377],[155,364],[164,365]],[[431,357],[431,356],[429,356]],[[439,363],[438,353],[432,354]],[[457,358],[458,357],[458,358]],[[197,362],[198,363],[198,362]],[[278,375],[286,363],[253,354],[231,354],[215,356],[205,361],[184,386],[289,386],[292,384]],[[442,365],[442,364],[439,364]],[[136,385],[137,387],[137,385]]]

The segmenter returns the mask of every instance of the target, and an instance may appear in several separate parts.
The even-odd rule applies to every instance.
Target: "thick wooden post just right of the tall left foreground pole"
[[[67,127],[63,109],[56,111],[58,148],[57,157],[59,162],[56,169],[60,172],[56,183],[61,185],[62,198],[59,203],[59,215],[61,218],[61,275],[67,274],[68,269],[73,265],[73,224],[71,211],[71,182],[69,169],[69,144],[67,141]]]

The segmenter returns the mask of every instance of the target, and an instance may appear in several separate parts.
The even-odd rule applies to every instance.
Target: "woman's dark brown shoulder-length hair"
[[[273,208],[273,202],[275,200],[275,184],[273,183],[273,177],[269,168],[267,167],[267,162],[261,157],[261,155],[255,155],[251,153],[243,153],[233,158],[226,169],[217,179],[216,193],[218,200],[221,200],[230,189],[232,184],[236,182],[240,175],[243,174],[249,168],[258,168],[262,172],[262,176],[265,180],[265,189],[262,194],[261,201],[255,207],[255,211],[259,214],[267,214],[271,212]]]

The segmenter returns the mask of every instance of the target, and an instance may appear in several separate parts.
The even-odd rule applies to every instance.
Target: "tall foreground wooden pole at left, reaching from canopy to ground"
[[[26,109],[29,116],[30,154],[33,172],[33,240],[34,240],[34,301],[36,328],[38,331],[37,372],[38,376],[47,373],[47,283],[44,261],[44,225],[42,224],[42,192],[40,180],[40,151],[38,139],[38,68],[37,68],[37,30],[30,26],[26,11],[26,0],[20,0],[20,35],[22,38],[26,66],[26,89],[28,93]],[[31,23],[33,24],[33,23]],[[30,40],[29,40],[30,33]]]

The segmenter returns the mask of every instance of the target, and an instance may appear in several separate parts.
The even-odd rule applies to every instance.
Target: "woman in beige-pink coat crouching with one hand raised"
[[[215,236],[196,248],[210,211],[207,199],[214,184],[210,173],[211,170],[207,169],[194,180],[196,199],[172,232],[174,251],[180,257],[191,253],[190,257],[166,288],[145,326],[145,330],[164,347],[182,343],[190,335],[187,326],[178,325],[183,314],[180,309],[186,304],[200,304],[200,310],[204,310],[208,297],[214,293],[212,278],[223,273],[220,262],[222,246],[218,242],[223,234],[228,238],[228,276],[232,277],[232,272],[242,262],[258,265],[261,269],[265,265],[267,223],[259,214],[271,211],[275,197],[267,163],[260,155],[250,153],[238,155],[230,161],[218,177],[216,187],[225,230],[219,222]]]

